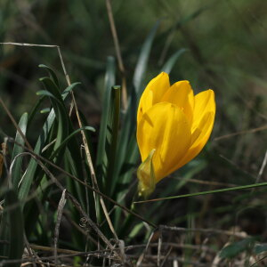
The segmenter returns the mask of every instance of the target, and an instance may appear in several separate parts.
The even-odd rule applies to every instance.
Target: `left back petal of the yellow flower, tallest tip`
[[[163,94],[166,93],[169,87],[170,81],[166,72],[161,72],[157,77],[150,81],[149,85],[147,85],[142,93],[139,102],[137,109],[137,123],[148,109],[161,100]]]

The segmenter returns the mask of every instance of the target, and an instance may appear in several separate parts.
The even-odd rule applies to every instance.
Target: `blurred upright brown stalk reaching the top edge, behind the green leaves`
[[[115,26],[115,21],[113,17],[113,12],[112,12],[112,7],[110,4],[110,0],[106,0],[106,6],[107,6],[107,11],[108,11],[108,16],[109,16],[109,24],[111,28],[111,33],[113,36],[113,41],[115,44],[115,51],[116,51],[116,56],[117,56],[117,62],[118,62],[118,68],[121,72],[122,75],[122,106],[123,110],[127,109],[127,88],[126,88],[126,78],[125,78],[125,66],[124,62],[122,60],[121,56],[121,51],[120,51],[120,46],[117,38],[117,29]]]

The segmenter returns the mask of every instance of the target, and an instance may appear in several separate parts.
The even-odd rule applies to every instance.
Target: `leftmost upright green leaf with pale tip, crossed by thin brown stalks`
[[[26,135],[27,123],[28,123],[28,113],[23,113],[23,115],[20,117],[19,127],[24,135]],[[24,144],[25,144],[24,139],[21,137],[20,133],[17,132],[14,142],[14,148],[12,151],[12,161],[17,155],[19,155],[24,151],[23,149]],[[16,158],[16,160],[13,162],[12,187],[14,190],[18,189],[18,185],[21,179],[21,163],[22,163],[22,157],[20,156]]]

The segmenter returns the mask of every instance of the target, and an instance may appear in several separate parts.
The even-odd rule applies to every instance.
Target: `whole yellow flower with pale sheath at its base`
[[[137,110],[140,195],[148,196],[157,182],[198,155],[212,132],[214,115],[213,90],[194,95],[188,81],[170,85],[165,72],[150,81]]]

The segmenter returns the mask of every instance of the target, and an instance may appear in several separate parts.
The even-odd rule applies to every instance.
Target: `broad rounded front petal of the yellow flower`
[[[170,174],[190,148],[190,124],[182,110],[160,102],[143,114],[137,125],[137,142],[142,161],[155,149],[153,166],[156,182]]]

